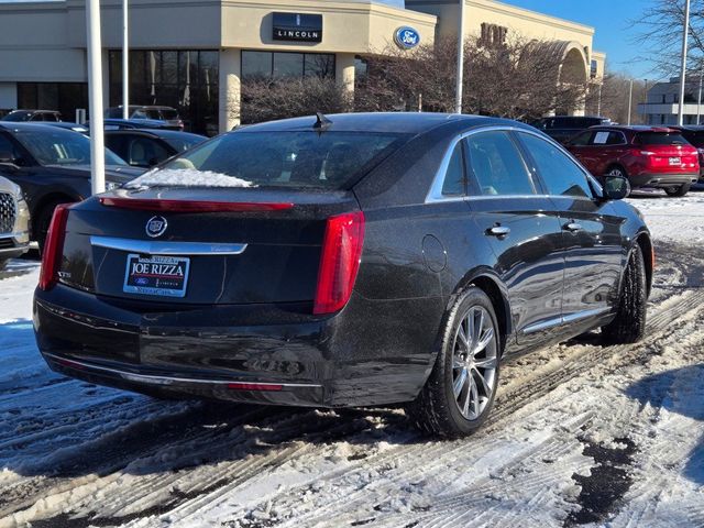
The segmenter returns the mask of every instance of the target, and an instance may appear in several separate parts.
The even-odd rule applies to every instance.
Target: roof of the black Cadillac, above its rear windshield
[[[421,134],[444,124],[464,124],[465,127],[510,125],[526,130],[535,130],[518,121],[484,116],[466,116],[458,113],[433,112],[371,112],[371,113],[338,113],[326,116],[331,121],[327,130],[336,132],[376,132],[376,133],[407,133]],[[242,127],[228,133],[252,132],[286,132],[315,130],[315,116],[270,121]]]

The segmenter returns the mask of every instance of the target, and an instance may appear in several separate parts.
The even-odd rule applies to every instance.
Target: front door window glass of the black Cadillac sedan
[[[535,162],[549,195],[592,198],[584,172],[557,146],[531,134],[519,133],[520,141]]]

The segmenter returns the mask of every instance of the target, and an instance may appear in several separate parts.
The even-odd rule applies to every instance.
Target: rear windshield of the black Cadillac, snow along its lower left
[[[140,184],[346,189],[405,143],[407,134],[235,132],[220,135],[139,178]],[[182,178],[175,182],[174,173]],[[217,176],[217,177],[216,177]],[[136,182],[136,180],[135,180]]]

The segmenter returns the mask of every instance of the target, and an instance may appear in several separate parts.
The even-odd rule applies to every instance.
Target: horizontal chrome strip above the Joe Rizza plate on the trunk
[[[162,242],[151,240],[116,239],[112,237],[90,237],[96,248],[141,253],[147,255],[241,255],[246,244],[220,244],[208,242]]]

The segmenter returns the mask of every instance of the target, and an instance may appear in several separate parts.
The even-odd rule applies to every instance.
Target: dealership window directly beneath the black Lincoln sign
[[[322,53],[242,52],[242,78],[334,78],[334,55]]]

